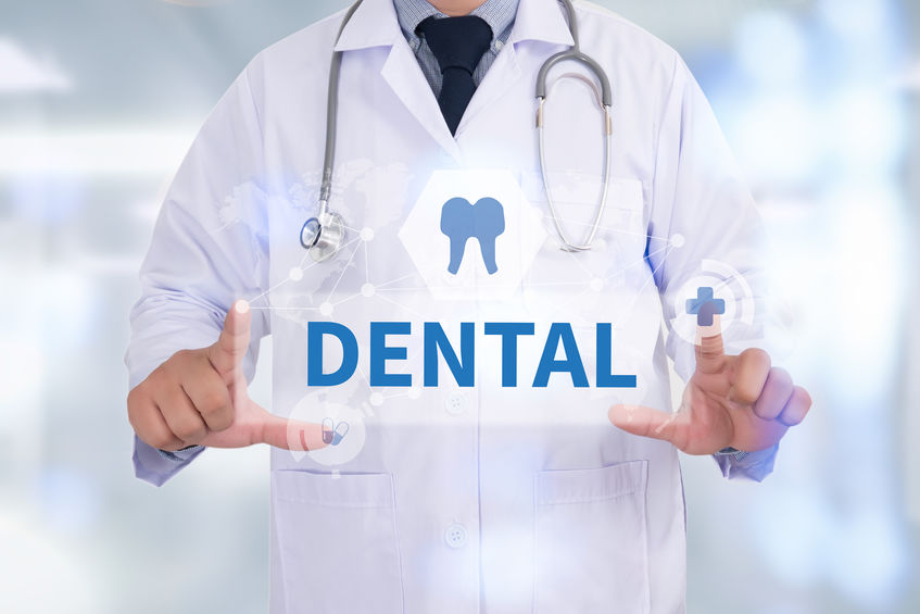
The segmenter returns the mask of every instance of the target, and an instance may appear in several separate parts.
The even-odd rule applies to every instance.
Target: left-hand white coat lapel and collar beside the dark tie
[[[441,115],[438,100],[406,42],[392,0],[364,0],[342,30],[337,51],[389,47],[380,75],[413,117],[446,152],[459,158],[459,148]]]

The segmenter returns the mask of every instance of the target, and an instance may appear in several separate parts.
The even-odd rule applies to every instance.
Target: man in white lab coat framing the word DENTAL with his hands
[[[340,36],[342,13],[260,53],[182,163],[131,312],[135,467],[162,485],[207,447],[273,446],[273,612],[680,612],[677,450],[763,479],[805,417],[752,349],[763,229],[703,93],[647,33],[576,15],[614,87],[589,251],[559,249],[538,155],[537,74],[574,43],[557,0],[364,0]],[[314,263],[333,49],[346,237]],[[603,122],[566,71],[545,179],[581,237]],[[444,195],[501,222],[454,236]],[[269,334],[270,412],[245,391]]]

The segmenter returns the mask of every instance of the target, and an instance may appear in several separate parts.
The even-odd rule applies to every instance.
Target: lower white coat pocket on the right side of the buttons
[[[534,612],[648,612],[646,471],[630,461],[537,474]]]

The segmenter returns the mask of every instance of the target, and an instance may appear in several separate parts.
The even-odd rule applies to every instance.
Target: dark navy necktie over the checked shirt
[[[489,50],[492,28],[481,17],[465,15],[428,17],[418,24],[416,32],[425,35],[425,41],[438,60],[443,76],[438,104],[451,134],[455,135],[476,91],[472,72],[482,60],[482,54]]]

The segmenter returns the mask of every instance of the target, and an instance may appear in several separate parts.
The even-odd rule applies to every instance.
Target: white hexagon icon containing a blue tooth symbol
[[[542,214],[509,171],[436,171],[400,240],[438,300],[502,300],[546,240]]]

